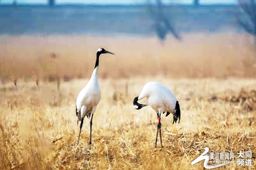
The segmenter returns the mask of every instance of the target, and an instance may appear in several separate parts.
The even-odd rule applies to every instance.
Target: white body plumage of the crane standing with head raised
[[[99,103],[101,93],[98,85],[98,69],[96,67],[93,71],[92,77],[90,78],[87,85],[80,91],[76,99],[76,108],[79,113],[77,120],[81,121],[89,113],[94,113]]]

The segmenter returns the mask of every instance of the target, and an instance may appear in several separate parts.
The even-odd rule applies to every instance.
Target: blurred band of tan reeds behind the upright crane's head
[[[184,34],[160,45],[152,36],[29,35],[0,37],[0,75],[29,79],[88,78],[99,47],[99,77],[163,75],[171,78],[255,77],[253,37],[246,34]]]

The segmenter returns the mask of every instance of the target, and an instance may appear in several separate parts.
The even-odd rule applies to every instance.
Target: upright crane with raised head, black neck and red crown
[[[80,132],[77,144],[81,134],[81,129],[84,122],[84,117],[87,116],[90,119],[90,144],[92,144],[92,125],[93,125],[93,114],[96,111],[96,107],[100,100],[100,89],[98,85],[98,69],[99,69],[99,56],[101,54],[113,54],[104,48],[99,48],[96,53],[96,63],[92,77],[90,78],[87,85],[80,91],[76,99],[76,116],[77,124],[81,121]]]

